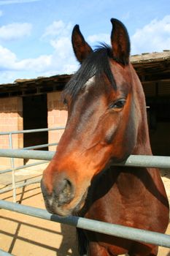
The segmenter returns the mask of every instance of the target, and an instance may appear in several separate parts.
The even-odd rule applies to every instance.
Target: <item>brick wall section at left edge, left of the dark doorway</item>
[[[11,97],[0,99],[0,132],[23,129],[23,99]],[[12,135],[13,148],[23,147],[23,134]],[[9,148],[9,136],[0,135],[0,148]],[[23,165],[23,159],[15,159],[15,165]],[[10,159],[0,158],[0,167],[9,167]]]

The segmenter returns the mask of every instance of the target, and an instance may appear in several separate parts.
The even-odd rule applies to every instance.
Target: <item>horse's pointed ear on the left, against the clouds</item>
[[[72,31],[72,46],[75,56],[77,57],[77,60],[80,61],[80,63],[82,63],[82,61],[90,53],[93,52],[92,48],[90,48],[90,45],[85,42],[85,39],[80,32],[79,25],[74,26],[74,29]]]

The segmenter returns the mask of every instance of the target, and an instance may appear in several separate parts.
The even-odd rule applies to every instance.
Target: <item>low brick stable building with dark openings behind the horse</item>
[[[170,50],[131,56],[147,101],[152,152],[170,155]],[[66,124],[67,111],[61,92],[71,75],[50,78],[18,79],[0,85],[0,132],[22,129],[61,127]],[[62,131],[12,135],[13,148],[58,142]],[[0,136],[0,148],[9,148],[6,135]],[[50,147],[55,150],[55,146]],[[16,165],[22,164],[18,159]],[[9,159],[1,159],[9,165]]]

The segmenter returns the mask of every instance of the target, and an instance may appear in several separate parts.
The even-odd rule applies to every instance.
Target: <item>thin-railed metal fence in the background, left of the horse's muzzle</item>
[[[13,149],[13,143],[12,143],[12,135],[16,135],[16,134],[28,134],[28,133],[35,133],[35,132],[50,132],[50,131],[54,131],[54,130],[61,130],[61,129],[65,129],[65,127],[54,127],[54,128],[45,128],[45,129],[26,129],[26,130],[20,130],[20,131],[11,131],[11,132],[0,132],[0,136],[3,135],[8,135],[8,140],[9,140],[9,149]],[[50,147],[50,146],[57,146],[58,143],[47,143],[47,144],[42,144],[42,145],[36,145],[36,146],[30,146],[30,147],[26,147],[23,148],[24,150],[33,150],[33,149],[38,149],[38,148],[45,148],[45,147]],[[29,158],[29,157],[22,157],[22,158]],[[31,179],[31,181],[24,181],[24,182],[20,182],[20,184],[16,184],[15,182],[15,170],[20,170],[20,169],[24,169],[27,167],[31,167],[34,165],[42,165],[45,162],[47,162],[47,160],[44,160],[42,162],[34,162],[32,164],[29,165],[20,165],[18,167],[15,167],[15,161],[14,161],[14,157],[10,157],[10,165],[11,167],[9,169],[6,170],[1,170],[0,171],[0,175],[4,174],[4,173],[12,173],[12,186],[11,187],[5,187],[4,189],[0,189],[0,194],[7,192],[9,190],[13,191],[13,202],[16,202],[16,189],[18,187],[23,187],[26,186],[28,184],[33,184],[36,182],[39,182],[40,178],[33,178]]]

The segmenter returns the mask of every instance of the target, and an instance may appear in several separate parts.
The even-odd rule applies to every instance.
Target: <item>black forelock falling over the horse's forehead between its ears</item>
[[[109,59],[114,59],[112,49],[108,45],[100,45],[82,62],[80,69],[66,84],[63,94],[75,97],[93,75],[101,79],[102,75],[105,74],[113,88],[116,89],[115,79],[109,66]]]

